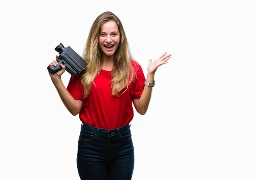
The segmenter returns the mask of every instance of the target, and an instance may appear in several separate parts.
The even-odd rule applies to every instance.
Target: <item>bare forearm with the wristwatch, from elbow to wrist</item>
[[[151,74],[148,73],[146,81],[153,82],[154,81],[154,74],[151,75]],[[143,89],[143,93],[140,96],[138,107],[137,107],[137,111],[140,114],[145,114],[146,111],[148,110],[148,105],[149,105],[149,102],[150,102],[151,93],[152,93],[152,87],[145,85],[144,89]]]

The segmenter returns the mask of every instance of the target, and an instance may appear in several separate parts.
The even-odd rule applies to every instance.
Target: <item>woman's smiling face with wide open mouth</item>
[[[114,57],[119,41],[120,33],[116,23],[112,20],[103,23],[99,34],[99,48],[103,52],[103,58]]]

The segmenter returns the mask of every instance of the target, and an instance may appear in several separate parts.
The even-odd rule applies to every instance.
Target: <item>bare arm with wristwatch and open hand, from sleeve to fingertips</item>
[[[157,58],[154,63],[152,63],[152,59],[149,60],[149,65],[148,65],[148,74],[146,81],[148,82],[153,82],[154,81],[154,74],[159,66],[162,64],[168,63],[168,59],[171,58],[171,54],[166,55],[167,52],[163,53],[159,58]],[[140,96],[140,98],[134,99],[133,104],[138,113],[141,115],[144,115],[147,110],[148,110],[148,105],[150,102],[151,98],[151,93],[152,93],[152,88],[151,86],[146,86],[143,89],[143,92]]]

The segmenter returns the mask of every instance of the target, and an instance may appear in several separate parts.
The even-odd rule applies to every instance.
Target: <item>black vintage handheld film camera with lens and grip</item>
[[[64,47],[60,43],[55,47],[55,51],[59,53],[58,65],[56,67],[48,66],[47,69],[50,73],[54,74],[61,70],[61,64],[66,67],[66,71],[71,75],[78,75],[86,70],[87,63],[70,46]]]

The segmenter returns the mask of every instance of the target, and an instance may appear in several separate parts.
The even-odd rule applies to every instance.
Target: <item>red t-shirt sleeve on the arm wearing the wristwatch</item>
[[[135,84],[134,84],[134,94],[132,96],[132,100],[137,99],[141,96],[143,89],[145,87],[145,75],[143,73],[143,70],[140,66],[140,64],[137,64],[137,71],[136,71],[136,78],[135,78]]]

